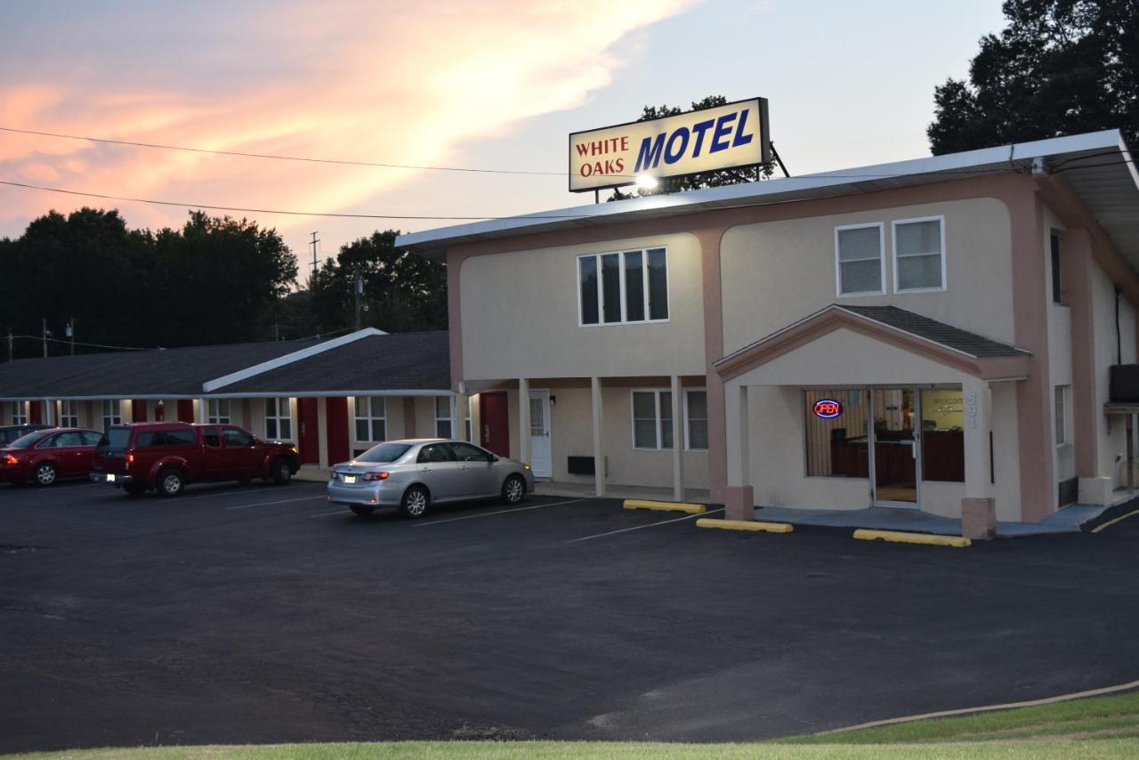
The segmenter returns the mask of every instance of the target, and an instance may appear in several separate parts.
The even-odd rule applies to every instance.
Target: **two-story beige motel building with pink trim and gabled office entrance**
[[[446,390],[539,477],[967,529],[1131,482],[1118,402],[1139,395],[1109,377],[1137,361],[1139,174],[1117,131],[396,244],[446,262]]]

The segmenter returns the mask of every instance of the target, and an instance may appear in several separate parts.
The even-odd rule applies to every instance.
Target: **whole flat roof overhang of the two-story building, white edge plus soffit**
[[[721,209],[859,195],[994,173],[1057,172],[1083,198],[1114,244],[1139,269],[1139,173],[1118,130],[1057,137],[927,158],[574,206],[456,224],[396,238],[395,245],[443,260],[456,245],[534,232],[593,228]]]

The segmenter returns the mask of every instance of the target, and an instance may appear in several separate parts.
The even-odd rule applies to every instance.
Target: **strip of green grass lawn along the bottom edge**
[[[164,746],[16,755],[63,760],[339,760],[346,758],[929,758],[1139,757],[1139,694],[1063,702],[755,744],[601,742],[388,742],[264,746]]]

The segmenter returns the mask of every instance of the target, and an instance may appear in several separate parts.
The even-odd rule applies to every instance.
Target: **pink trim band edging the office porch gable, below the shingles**
[[[1027,377],[1031,356],[976,357],[831,304],[712,363],[730,381],[839,329],[847,329],[984,381]]]

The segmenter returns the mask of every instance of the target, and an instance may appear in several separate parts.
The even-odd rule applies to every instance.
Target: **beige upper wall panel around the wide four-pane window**
[[[579,326],[577,256],[664,246],[669,321]],[[691,235],[474,256],[461,264],[462,376],[703,374],[700,247]]]

